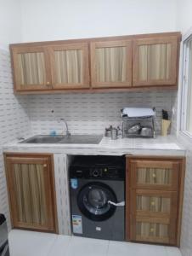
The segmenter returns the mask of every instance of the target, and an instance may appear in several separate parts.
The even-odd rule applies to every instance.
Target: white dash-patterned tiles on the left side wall
[[[30,129],[26,113],[27,96],[14,96],[10,57],[0,49],[0,212],[7,217],[8,197],[3,170],[3,144],[20,137]],[[8,222],[9,223],[9,222]]]

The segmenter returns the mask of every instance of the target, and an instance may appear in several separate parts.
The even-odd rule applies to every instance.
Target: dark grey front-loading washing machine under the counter
[[[125,157],[76,156],[69,177],[73,235],[124,241]]]

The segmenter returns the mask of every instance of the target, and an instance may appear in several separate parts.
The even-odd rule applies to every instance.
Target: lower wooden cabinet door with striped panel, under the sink
[[[4,154],[13,228],[58,232],[52,154]]]

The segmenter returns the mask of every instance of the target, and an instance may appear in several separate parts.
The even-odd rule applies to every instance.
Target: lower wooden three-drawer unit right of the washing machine
[[[184,158],[127,156],[126,237],[179,246]]]

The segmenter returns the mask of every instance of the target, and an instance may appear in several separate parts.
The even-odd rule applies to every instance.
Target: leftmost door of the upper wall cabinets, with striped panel
[[[15,90],[50,90],[48,51],[42,46],[12,48]]]

